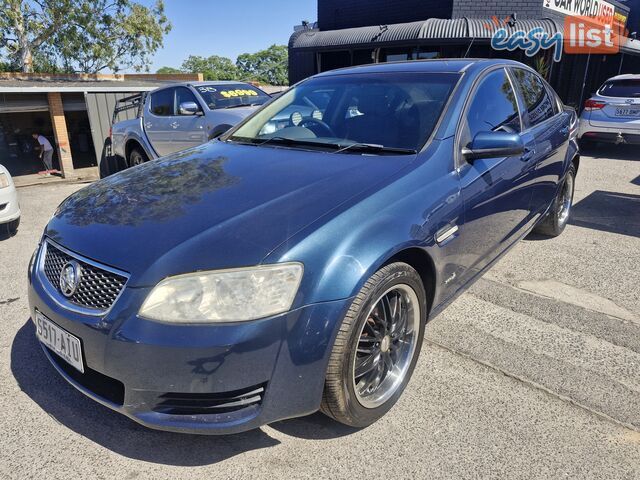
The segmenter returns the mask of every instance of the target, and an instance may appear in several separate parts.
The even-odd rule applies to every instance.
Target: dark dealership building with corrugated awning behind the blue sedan
[[[567,19],[606,14],[628,35],[618,53],[551,49],[529,57],[496,50],[496,30],[564,32]],[[640,0],[318,0],[318,21],[296,27],[289,41],[289,80],[377,62],[446,57],[510,58],[542,73],[568,105],[579,107],[606,80],[640,73]],[[565,41],[568,40],[566,35]]]

